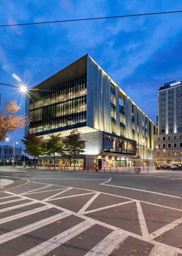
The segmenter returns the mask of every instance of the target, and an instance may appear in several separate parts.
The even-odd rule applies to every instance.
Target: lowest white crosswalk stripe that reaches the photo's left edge
[[[0,236],[0,244],[3,244],[5,242],[10,241],[12,239],[15,239],[17,237],[23,236],[24,234],[32,232],[36,229],[40,229],[41,227],[44,227],[44,226],[49,225],[53,222],[59,221],[60,219],[66,218],[70,215],[71,214],[62,212],[62,213],[53,215],[49,218],[42,219],[41,221],[34,222],[30,225],[20,227],[20,229],[16,229],[16,230],[10,231],[8,233],[5,233],[5,234]]]

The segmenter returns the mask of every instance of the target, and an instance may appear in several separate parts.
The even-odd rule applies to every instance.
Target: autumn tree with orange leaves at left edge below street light
[[[17,115],[20,105],[17,105],[16,101],[5,103],[5,108],[0,112],[0,140],[5,140],[8,134],[23,129],[29,124],[27,116]]]

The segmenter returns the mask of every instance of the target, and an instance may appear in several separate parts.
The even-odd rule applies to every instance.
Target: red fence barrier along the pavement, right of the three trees
[[[131,173],[131,172],[135,172],[135,167],[79,166],[78,170],[79,172]]]

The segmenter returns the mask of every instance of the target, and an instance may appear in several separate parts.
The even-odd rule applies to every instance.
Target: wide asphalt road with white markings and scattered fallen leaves
[[[0,255],[182,255],[182,174],[4,169]]]

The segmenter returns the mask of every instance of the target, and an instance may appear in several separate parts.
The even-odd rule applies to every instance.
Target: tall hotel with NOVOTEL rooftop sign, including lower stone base
[[[182,161],[182,81],[165,83],[158,93],[158,135],[154,136],[154,165]]]

